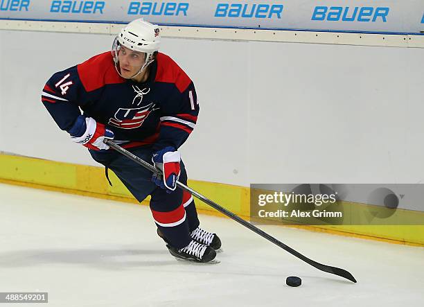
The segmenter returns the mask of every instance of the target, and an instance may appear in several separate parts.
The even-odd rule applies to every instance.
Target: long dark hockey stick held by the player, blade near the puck
[[[141,166],[144,166],[145,168],[152,171],[153,173],[159,173],[160,175],[162,174],[161,170],[155,168],[151,164],[148,164],[148,162],[144,161],[143,159],[140,159],[136,155],[133,155],[131,152],[125,150],[121,146],[116,145],[113,141],[111,141],[109,139],[105,139],[105,143],[107,143],[107,145],[112,147],[117,152],[120,152],[122,155],[124,155],[128,159],[131,159],[132,161],[136,162],[137,164],[140,164]],[[259,236],[262,236],[263,238],[269,240],[270,242],[274,243],[275,245],[278,245],[279,247],[281,247],[285,251],[289,252],[290,254],[297,256],[297,258],[305,261],[306,263],[312,265],[313,267],[316,267],[318,270],[321,270],[321,271],[324,271],[324,272],[327,272],[327,273],[330,273],[330,274],[335,274],[335,275],[338,275],[339,277],[344,277],[345,279],[348,279],[348,280],[356,283],[355,277],[353,277],[352,274],[349,273],[348,271],[340,269],[339,267],[331,267],[329,265],[317,263],[316,261],[313,261],[310,258],[303,256],[303,254],[295,251],[294,249],[292,249],[292,247],[285,245],[284,243],[277,240],[273,236],[270,236],[265,231],[260,230],[258,227],[247,222],[247,220],[243,220],[242,218],[240,218],[236,214],[232,213],[231,211],[228,211],[227,209],[221,207],[216,202],[213,202],[212,200],[209,200],[208,198],[204,197],[202,194],[197,193],[196,191],[194,191],[192,188],[189,188],[185,184],[182,184],[181,182],[177,181],[177,186],[179,186],[179,188],[182,188],[184,191],[190,192],[192,195],[195,195],[196,198],[199,198],[203,202],[206,202],[206,204],[209,204],[209,206],[211,206],[213,209],[216,209],[216,210],[220,211],[221,213],[224,213],[229,218],[232,218],[236,222],[239,222],[241,225],[249,228],[251,231],[254,231]]]

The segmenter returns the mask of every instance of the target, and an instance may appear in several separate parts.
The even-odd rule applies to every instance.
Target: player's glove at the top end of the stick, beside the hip
[[[105,139],[114,139],[114,132],[107,130],[103,123],[97,123],[91,117],[78,116],[71,130],[72,141],[93,150],[107,150]]]

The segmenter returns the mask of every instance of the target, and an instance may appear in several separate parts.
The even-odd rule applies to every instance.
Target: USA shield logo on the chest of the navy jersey
[[[154,104],[150,103],[143,107],[136,107],[134,109],[125,109],[120,107],[115,113],[114,119],[109,119],[109,125],[113,125],[122,129],[135,129],[143,125],[144,120],[154,111]]]

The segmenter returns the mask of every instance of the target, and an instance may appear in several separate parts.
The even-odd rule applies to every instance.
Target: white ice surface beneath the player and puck
[[[6,184],[0,195],[0,292],[48,292],[46,306],[423,306],[421,247],[261,227],[354,284],[233,220],[200,216],[224,247],[202,265],[170,256],[148,207]],[[302,286],[285,285],[292,275]]]

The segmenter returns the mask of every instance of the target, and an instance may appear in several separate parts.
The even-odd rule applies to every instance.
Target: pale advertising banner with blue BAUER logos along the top
[[[424,31],[423,0],[0,0],[0,19],[374,33]]]

